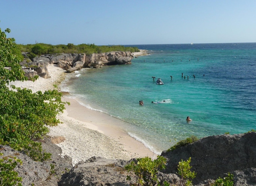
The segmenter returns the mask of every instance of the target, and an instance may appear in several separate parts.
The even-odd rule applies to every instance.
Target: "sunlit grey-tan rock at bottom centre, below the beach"
[[[132,177],[131,180],[126,180],[128,173],[125,171],[124,166],[130,161],[92,157],[84,162],[78,162],[68,173],[67,177],[60,182],[63,186],[129,186],[136,182]],[[133,161],[136,160],[133,159]],[[178,184],[179,181],[179,177],[175,174],[159,173],[158,177],[160,177],[161,180],[168,180],[170,183],[175,184]],[[162,181],[160,181],[160,183],[161,182]]]

